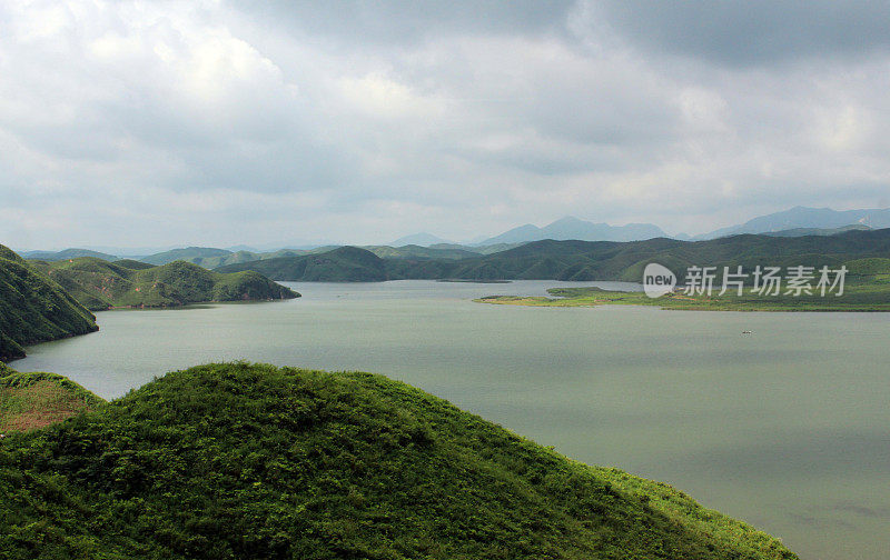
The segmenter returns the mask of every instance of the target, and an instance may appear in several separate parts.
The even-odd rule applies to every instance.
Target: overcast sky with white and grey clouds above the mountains
[[[890,206],[890,2],[0,2],[0,243]]]

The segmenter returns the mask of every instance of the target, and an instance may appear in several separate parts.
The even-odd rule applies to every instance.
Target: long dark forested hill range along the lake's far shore
[[[622,280],[639,282],[650,262],[682,277],[691,266],[835,267],[853,259],[890,257],[890,229],[848,231],[795,238],[734,236],[710,241],[656,238],[646,241],[544,240],[476,258],[382,259],[345,247],[312,256],[284,257],[222,267],[219,271],[256,270],[275,280],[380,281],[402,279],[465,280]]]

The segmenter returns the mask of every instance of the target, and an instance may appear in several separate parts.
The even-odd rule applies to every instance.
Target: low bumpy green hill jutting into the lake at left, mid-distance
[[[290,299],[299,294],[258,272],[221,274],[188,262],[145,267],[81,258],[32,266],[91,310],[168,307],[201,301]]]

